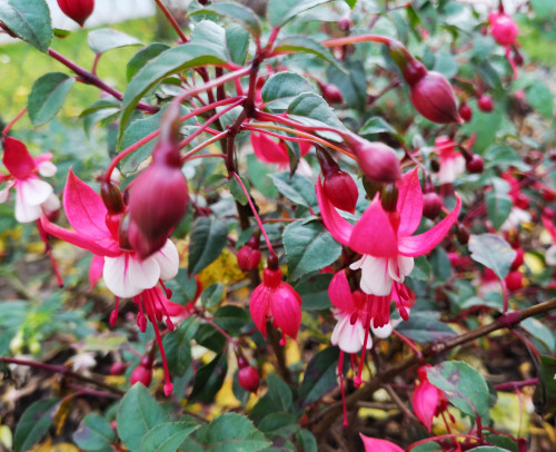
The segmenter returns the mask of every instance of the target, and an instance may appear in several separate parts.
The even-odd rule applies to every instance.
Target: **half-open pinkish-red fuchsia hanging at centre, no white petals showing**
[[[274,266],[274,265],[272,265]],[[249,313],[257,328],[267,338],[267,317],[272,317],[275,327],[281,330],[281,345],[286,335],[297,338],[301,326],[301,297],[288,283],[281,281],[281,269],[269,265],[262,273],[262,283],[252,291]]]

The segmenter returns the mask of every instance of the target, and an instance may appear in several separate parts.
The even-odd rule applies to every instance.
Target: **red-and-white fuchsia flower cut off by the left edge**
[[[50,161],[52,154],[33,158],[23,143],[8,136],[3,137],[2,144],[2,161],[10,174],[0,175],[0,181],[7,183],[0,190],[0,203],[9,198],[10,189],[14,187],[16,219],[19,223],[31,223],[39,219],[43,212],[58,210],[60,200],[52,186],[37,176],[51,177],[56,174],[56,166]]]

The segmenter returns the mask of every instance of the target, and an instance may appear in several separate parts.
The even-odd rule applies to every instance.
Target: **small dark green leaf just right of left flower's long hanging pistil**
[[[188,317],[171,334],[163,338],[168,369],[175,375],[181,376],[191,365],[191,340],[199,328],[198,317]]]

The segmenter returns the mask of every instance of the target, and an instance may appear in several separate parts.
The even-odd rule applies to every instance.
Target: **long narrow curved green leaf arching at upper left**
[[[131,79],[123,95],[120,118],[120,139],[135,107],[142,96],[172,73],[201,65],[224,65],[221,50],[216,52],[200,43],[185,43],[171,48],[145,65]]]

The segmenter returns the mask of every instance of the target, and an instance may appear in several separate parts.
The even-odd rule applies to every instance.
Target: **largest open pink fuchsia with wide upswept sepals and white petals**
[[[401,284],[413,271],[413,258],[429,253],[443,240],[461,207],[461,199],[457,196],[455,208],[440,223],[413,236],[423,217],[417,168],[404,175],[397,187],[399,195],[394,212],[386,212],[376,197],[359,220],[351,225],[324,196],[320,179],[317,181],[317,199],[325,226],[340,244],[363,255],[350,268],[361,269],[360,286],[369,295],[388,296],[394,283]],[[375,326],[383,326],[387,318],[386,322],[375,318]]]

